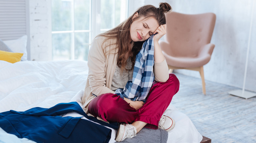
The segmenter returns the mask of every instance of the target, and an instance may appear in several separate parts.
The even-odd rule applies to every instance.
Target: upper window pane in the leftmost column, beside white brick
[[[52,31],[71,30],[71,1],[52,0]]]

